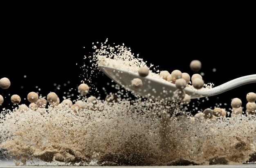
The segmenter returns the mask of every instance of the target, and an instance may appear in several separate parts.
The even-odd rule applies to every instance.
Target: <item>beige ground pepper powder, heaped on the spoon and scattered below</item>
[[[124,46],[94,48],[92,60],[100,65],[132,72],[146,65]],[[155,72],[149,75],[164,80]],[[17,164],[33,158],[79,165],[241,164],[256,153],[255,115],[198,119],[179,101],[116,95],[116,103],[97,100],[84,109],[49,105],[35,111],[4,110],[0,148]]]

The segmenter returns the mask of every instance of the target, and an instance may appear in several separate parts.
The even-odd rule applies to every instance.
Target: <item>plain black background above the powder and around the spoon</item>
[[[216,86],[256,74],[255,19],[250,13],[251,4],[184,2],[110,6],[70,7],[72,11],[34,9],[4,15],[0,78],[9,78],[11,87],[0,89],[0,94],[7,97],[1,108],[10,107],[12,94],[20,95],[21,103],[29,105],[24,98],[31,91],[38,92],[36,86],[43,96],[56,92],[62,97],[68,89],[76,89],[83,80],[80,66],[84,55],[89,56],[93,51],[92,42],[104,42],[106,38],[110,44],[124,43],[148,63],[159,65],[159,70],[178,69],[192,75],[189,63],[198,59],[202,62],[205,83]],[[213,68],[217,71],[213,72]],[[94,80],[99,88],[110,81],[101,75]],[[70,84],[64,87],[67,81]],[[54,83],[61,85],[61,89],[56,90]],[[200,108],[213,107],[216,103],[229,108],[231,98],[235,97],[245,106],[248,92],[256,92],[255,83],[212,96]]]

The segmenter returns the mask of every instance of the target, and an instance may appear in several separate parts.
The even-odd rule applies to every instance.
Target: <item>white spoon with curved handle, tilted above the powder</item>
[[[168,81],[155,79],[150,76],[141,77],[138,73],[128,72],[126,70],[112,68],[105,65],[99,65],[98,68],[110,79],[112,79],[122,87],[146,98],[152,98],[156,100],[172,100],[173,92],[177,90],[175,84]],[[132,87],[131,81],[135,78],[141,79],[143,83],[141,87]],[[186,92],[186,94],[190,95],[191,98],[200,98],[221,94],[223,92],[227,92],[228,90],[249,83],[256,83],[256,74],[242,76],[240,78],[233,79],[211,89],[195,89],[193,87],[185,87],[184,91]]]

